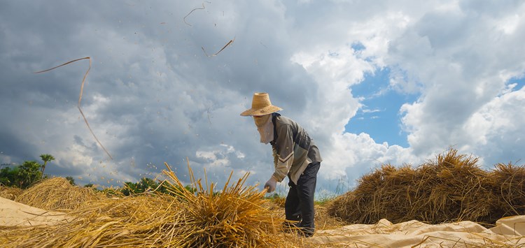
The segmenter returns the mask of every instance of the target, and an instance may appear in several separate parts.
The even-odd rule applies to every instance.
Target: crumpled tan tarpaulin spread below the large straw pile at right
[[[317,231],[311,244],[349,247],[471,247],[525,245],[525,216],[507,217],[494,228],[472,221],[430,225],[420,221],[392,224],[381,219],[377,224],[356,224],[335,230]]]

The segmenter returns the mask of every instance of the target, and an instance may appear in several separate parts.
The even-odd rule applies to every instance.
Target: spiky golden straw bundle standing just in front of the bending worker
[[[171,181],[167,181],[169,191],[182,196],[184,230],[178,231],[178,236],[184,237],[176,245],[181,247],[276,247],[284,240],[278,238],[283,219],[275,212],[262,207],[265,190],[258,192],[253,187],[244,187],[248,173],[236,184],[228,187],[232,173],[223,190],[214,194],[214,184],[202,187],[200,180],[195,180],[190,170],[192,185],[196,194],[186,190],[179,178],[166,164],[168,170],[164,173]]]

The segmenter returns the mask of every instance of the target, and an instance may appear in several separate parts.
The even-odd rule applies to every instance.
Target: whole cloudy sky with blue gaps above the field
[[[318,194],[449,146],[484,168],[522,164],[524,13],[512,0],[0,1],[0,163],[47,153],[46,173],[120,186],[164,162],[188,182],[188,158],[197,178],[264,184],[271,148],[239,114],[268,92],[320,147]],[[112,159],[77,108],[90,61],[34,73],[83,57],[80,108]]]

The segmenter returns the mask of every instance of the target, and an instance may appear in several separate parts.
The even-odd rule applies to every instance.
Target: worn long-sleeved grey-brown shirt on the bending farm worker
[[[272,123],[274,140],[270,144],[274,151],[275,166],[272,176],[281,182],[288,175],[297,184],[309,163],[322,161],[319,149],[307,131],[292,119],[273,113]]]

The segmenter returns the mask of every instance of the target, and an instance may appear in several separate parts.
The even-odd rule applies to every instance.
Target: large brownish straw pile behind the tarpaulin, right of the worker
[[[475,221],[485,226],[525,214],[525,168],[512,163],[479,168],[477,158],[450,148],[416,168],[389,164],[364,175],[353,191],[328,205],[328,214],[349,224],[429,224]]]

